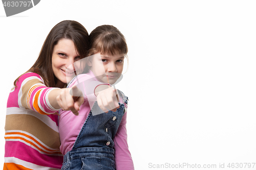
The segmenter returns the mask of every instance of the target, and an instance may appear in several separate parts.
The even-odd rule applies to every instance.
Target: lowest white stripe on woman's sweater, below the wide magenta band
[[[26,162],[24,160],[14,158],[14,157],[5,157],[5,163],[15,163],[15,164],[22,165],[30,169],[36,169],[36,170],[60,170],[58,168],[53,168],[53,167],[39,166],[34,163]]]

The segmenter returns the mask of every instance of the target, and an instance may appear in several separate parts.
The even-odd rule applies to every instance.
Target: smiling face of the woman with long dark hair
[[[76,62],[80,59],[76,52],[74,42],[70,39],[62,38],[53,48],[52,69],[54,76],[58,79],[57,87],[63,87],[68,81],[75,77]],[[76,62],[74,66],[74,62]]]

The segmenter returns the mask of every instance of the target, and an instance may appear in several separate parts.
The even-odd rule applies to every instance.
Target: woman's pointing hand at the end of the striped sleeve
[[[59,107],[62,110],[70,110],[75,115],[78,115],[80,106],[84,101],[81,90],[79,90],[76,86],[61,89],[61,92],[56,99]]]

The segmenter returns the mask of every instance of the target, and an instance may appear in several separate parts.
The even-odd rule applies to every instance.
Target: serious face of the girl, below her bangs
[[[88,65],[100,82],[114,84],[122,74],[123,60],[124,54],[97,53],[88,60]]]

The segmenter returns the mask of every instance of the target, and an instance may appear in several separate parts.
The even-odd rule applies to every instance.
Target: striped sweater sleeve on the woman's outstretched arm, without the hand
[[[34,72],[21,76],[15,88],[18,88],[18,105],[34,110],[40,114],[52,114],[59,109],[53,108],[48,100],[48,95],[55,88],[46,87],[44,80]]]

